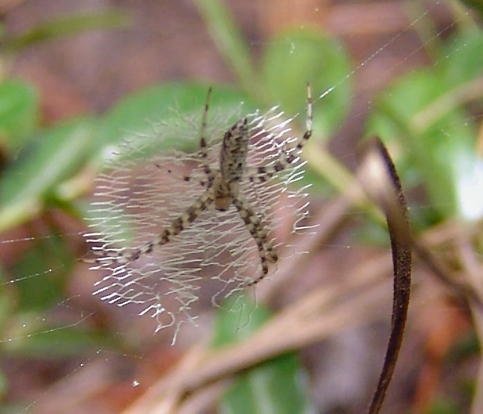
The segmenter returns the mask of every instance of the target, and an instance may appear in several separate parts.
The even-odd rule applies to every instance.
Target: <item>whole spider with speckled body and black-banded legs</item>
[[[247,286],[255,285],[261,281],[268,273],[268,263],[276,263],[278,255],[274,252],[272,241],[269,240],[267,225],[262,223],[256,211],[245,200],[239,191],[239,182],[247,178],[250,182],[265,182],[279,171],[290,167],[292,162],[298,157],[291,151],[281,153],[278,161],[266,167],[247,167],[247,152],[249,139],[252,131],[249,129],[247,117],[242,117],[229,128],[222,139],[218,168],[210,167],[207,152],[207,114],[209,111],[209,101],[211,98],[211,88],[207,93],[205,106],[202,113],[202,124],[200,131],[200,157],[202,171],[206,178],[199,182],[205,187],[205,192],[178,218],[172,221],[171,225],[164,229],[158,236],[142,245],[134,252],[120,252],[111,260],[117,263],[129,263],[137,261],[144,254],[150,254],[157,247],[169,243],[175,236],[186,229],[207,209],[214,208],[218,211],[226,211],[233,205],[238,211],[240,219],[245,223],[249,234],[254,238],[258,246],[258,256],[261,261],[262,274],[257,279],[250,281]],[[299,153],[307,140],[312,135],[312,90],[307,84],[307,115],[305,133],[296,144],[295,152]],[[156,167],[160,165],[156,164]],[[168,170],[172,173],[171,170]],[[189,176],[182,176],[185,181],[191,180]],[[97,259],[102,261],[102,259]]]

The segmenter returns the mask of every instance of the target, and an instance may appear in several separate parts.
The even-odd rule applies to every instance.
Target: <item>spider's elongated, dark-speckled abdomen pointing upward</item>
[[[238,182],[243,178],[248,151],[247,118],[231,126],[223,136],[220,153],[220,171],[226,182]]]

